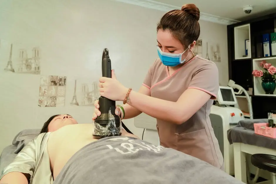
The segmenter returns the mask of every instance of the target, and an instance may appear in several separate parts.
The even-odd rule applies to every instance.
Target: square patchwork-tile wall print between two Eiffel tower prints
[[[38,107],[65,106],[66,77],[45,76],[40,77]]]

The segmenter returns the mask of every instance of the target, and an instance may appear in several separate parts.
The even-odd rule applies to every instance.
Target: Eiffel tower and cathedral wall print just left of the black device
[[[95,100],[99,97],[98,82],[89,79],[77,79],[74,81],[74,91],[72,92],[70,105],[94,106]]]

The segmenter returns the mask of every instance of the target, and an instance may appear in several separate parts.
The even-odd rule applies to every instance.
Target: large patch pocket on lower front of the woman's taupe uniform
[[[205,129],[184,134],[175,133],[175,136],[178,151],[214,165],[215,160]]]

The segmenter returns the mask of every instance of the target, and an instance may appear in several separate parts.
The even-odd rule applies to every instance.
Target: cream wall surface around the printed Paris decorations
[[[54,114],[91,123],[94,107],[71,106],[75,79],[98,81],[103,48],[108,48],[118,80],[138,90],[158,57],[156,24],[164,12],[110,0],[2,0],[0,2],[0,151],[22,129],[41,128]],[[225,25],[200,21],[203,45],[221,45],[220,82],[228,82]],[[39,47],[41,75],[66,76],[65,106],[38,107],[40,75],[4,72],[13,43],[13,64],[20,48]],[[203,48],[203,56],[206,51]],[[124,123],[134,134],[133,119]],[[68,135],[69,136],[69,135]]]

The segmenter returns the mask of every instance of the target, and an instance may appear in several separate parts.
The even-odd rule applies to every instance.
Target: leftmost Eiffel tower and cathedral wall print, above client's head
[[[24,44],[11,43],[9,53],[1,53],[6,62],[4,71],[40,75],[40,49],[39,47],[27,47]],[[2,58],[3,59],[3,58]]]

